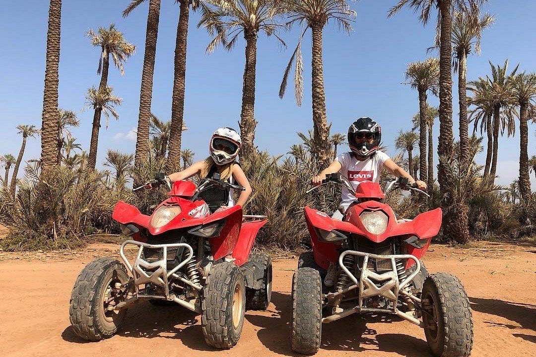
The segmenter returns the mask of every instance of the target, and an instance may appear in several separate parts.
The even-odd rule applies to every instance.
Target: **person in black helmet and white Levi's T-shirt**
[[[419,189],[426,189],[426,183],[414,180],[409,173],[394,163],[383,151],[379,151],[382,128],[373,119],[363,117],[354,121],[348,128],[348,146],[351,151],[342,153],[318,176],[312,178],[313,185],[320,185],[326,173],[341,172],[348,178],[354,190],[363,181],[379,182],[382,168],[388,169],[395,177],[407,177]],[[334,219],[343,219],[344,212],[355,201],[355,197],[343,186],[339,210]]]

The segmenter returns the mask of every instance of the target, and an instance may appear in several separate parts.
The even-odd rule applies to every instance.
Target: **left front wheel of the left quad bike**
[[[69,315],[75,333],[90,341],[114,335],[123,323],[126,309],[113,307],[124,301],[129,276],[125,266],[111,258],[95,259],[80,272],[72,289]]]

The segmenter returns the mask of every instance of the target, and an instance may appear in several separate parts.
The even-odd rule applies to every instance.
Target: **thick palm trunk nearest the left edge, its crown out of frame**
[[[58,66],[61,15],[62,1],[50,0],[48,11],[47,62],[44,71],[43,112],[41,124],[41,173],[48,172],[50,169],[57,166],[56,140],[59,126]]]

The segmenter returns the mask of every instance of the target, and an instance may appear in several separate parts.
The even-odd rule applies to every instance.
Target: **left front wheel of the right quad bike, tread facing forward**
[[[296,270],[292,278],[291,347],[314,354],[322,335],[322,283],[312,268]]]

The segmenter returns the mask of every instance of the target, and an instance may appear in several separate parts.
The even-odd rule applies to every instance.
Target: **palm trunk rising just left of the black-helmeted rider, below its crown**
[[[324,72],[322,64],[322,31],[324,23],[311,24],[312,33],[312,59],[311,59],[311,85],[312,85],[312,124],[313,153],[323,167],[330,164],[330,126],[327,125],[326,96],[324,93]]]

